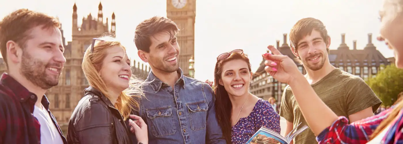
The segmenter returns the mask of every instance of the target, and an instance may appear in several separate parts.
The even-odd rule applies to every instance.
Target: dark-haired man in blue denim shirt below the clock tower
[[[212,88],[184,76],[179,68],[178,31],[164,17],[152,17],[136,27],[138,55],[151,67],[138,113],[147,123],[149,143],[225,144]]]

